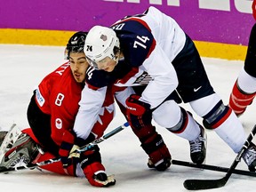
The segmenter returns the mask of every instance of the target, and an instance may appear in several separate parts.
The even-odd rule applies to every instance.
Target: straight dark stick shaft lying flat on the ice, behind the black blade
[[[211,164],[194,164],[191,162],[185,162],[185,161],[180,161],[176,159],[172,159],[172,164],[187,166],[187,167],[194,167],[198,169],[210,170],[215,172],[228,172],[228,167],[215,166]],[[239,175],[256,177],[256,172],[249,172],[249,171],[235,169],[233,173],[239,174]]]

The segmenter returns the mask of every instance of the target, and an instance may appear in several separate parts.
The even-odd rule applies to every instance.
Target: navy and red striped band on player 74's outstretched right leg
[[[230,116],[232,110],[228,106],[225,106],[220,100],[212,110],[203,116],[203,124],[206,129],[215,129],[224,123],[228,116]]]

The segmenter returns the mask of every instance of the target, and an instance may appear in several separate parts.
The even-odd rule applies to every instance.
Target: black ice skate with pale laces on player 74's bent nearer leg
[[[204,128],[200,126],[201,132],[196,140],[190,140],[190,157],[193,163],[203,164],[206,156],[207,137]]]

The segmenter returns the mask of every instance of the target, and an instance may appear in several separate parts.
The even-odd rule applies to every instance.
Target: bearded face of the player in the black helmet
[[[84,83],[86,70],[89,67],[84,52],[70,52],[69,62],[72,74],[77,83]]]

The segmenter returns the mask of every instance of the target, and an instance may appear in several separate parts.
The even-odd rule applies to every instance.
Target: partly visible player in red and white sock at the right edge
[[[256,20],[256,0],[252,3],[252,15]],[[252,26],[244,68],[240,71],[229,97],[229,106],[236,116],[244,114],[256,95],[256,23]]]

